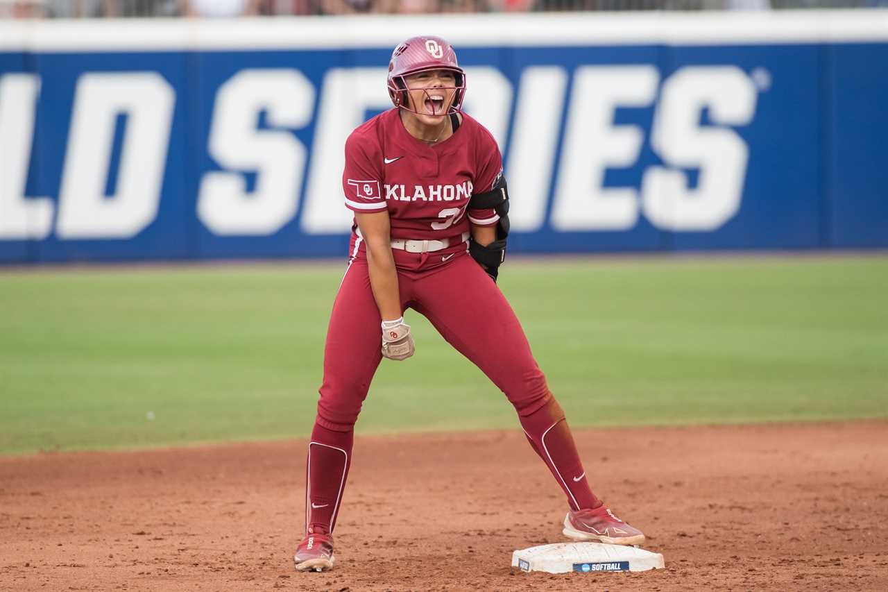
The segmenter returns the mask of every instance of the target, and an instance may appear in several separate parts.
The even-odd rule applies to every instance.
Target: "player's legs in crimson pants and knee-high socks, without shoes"
[[[464,252],[424,274],[399,272],[401,309],[426,316],[460,353],[499,387],[519,414],[530,444],[574,509],[594,508],[564,413],[551,396],[518,318],[497,285]],[[381,318],[367,260],[349,264],[324,348],[324,378],[309,444],[306,528],[332,532],[351,464],[353,427],[382,355]],[[423,344],[416,344],[422,351]],[[394,364],[394,362],[388,362]],[[415,364],[413,360],[397,364]]]

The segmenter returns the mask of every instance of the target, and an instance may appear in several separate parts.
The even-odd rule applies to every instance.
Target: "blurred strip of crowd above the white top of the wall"
[[[0,18],[867,8],[888,0],[0,0]]]

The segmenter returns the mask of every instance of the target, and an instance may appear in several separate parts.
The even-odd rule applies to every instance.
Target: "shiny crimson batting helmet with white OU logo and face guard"
[[[388,75],[389,96],[392,97],[394,106],[416,113],[409,107],[407,82],[404,78],[424,70],[450,70],[454,73],[456,86],[447,87],[456,90],[448,114],[459,111],[463,107],[465,95],[465,73],[456,63],[453,45],[431,35],[410,37],[394,48]],[[428,94],[428,89],[425,92]]]

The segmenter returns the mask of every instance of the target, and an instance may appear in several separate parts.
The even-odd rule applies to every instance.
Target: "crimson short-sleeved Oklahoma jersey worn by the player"
[[[425,257],[392,249],[400,269],[435,268],[452,253],[467,252],[462,237],[471,224],[494,226],[499,220],[492,209],[468,206],[472,194],[490,191],[502,172],[496,140],[472,117],[464,114],[453,135],[429,145],[411,136],[398,109],[392,108],[362,124],[345,141],[345,207],[388,212],[392,239],[448,239],[446,249]],[[357,223],[350,250],[353,257],[366,257]]]

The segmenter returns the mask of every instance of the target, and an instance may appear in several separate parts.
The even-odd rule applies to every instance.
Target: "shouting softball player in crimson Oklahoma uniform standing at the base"
[[[465,88],[450,44],[436,36],[408,39],[389,63],[394,108],[345,142],[351,257],[324,348],[297,570],[336,563],[332,533],[354,423],[382,358],[414,353],[406,308],[426,316],[514,405],[527,441],[567,495],[565,535],[618,545],[645,540],[591,492],[564,412],[496,286],[509,233],[508,193],[496,141],[460,110]]]

